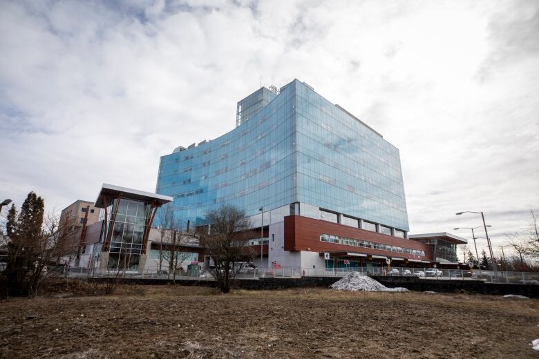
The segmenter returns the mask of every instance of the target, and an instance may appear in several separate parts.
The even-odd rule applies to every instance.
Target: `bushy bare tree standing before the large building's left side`
[[[245,217],[245,211],[228,205],[209,211],[206,221],[210,225],[210,231],[197,233],[200,245],[214,261],[214,266],[210,266],[209,271],[219,289],[228,293],[238,271],[245,262],[250,262],[253,258],[254,252],[247,246],[245,235],[251,224]]]

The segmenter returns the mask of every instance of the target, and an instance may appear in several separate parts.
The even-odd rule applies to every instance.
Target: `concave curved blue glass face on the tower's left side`
[[[174,197],[174,217],[199,225],[225,203],[256,215],[296,202],[294,101],[288,86],[229,133],[162,156],[155,191]]]

